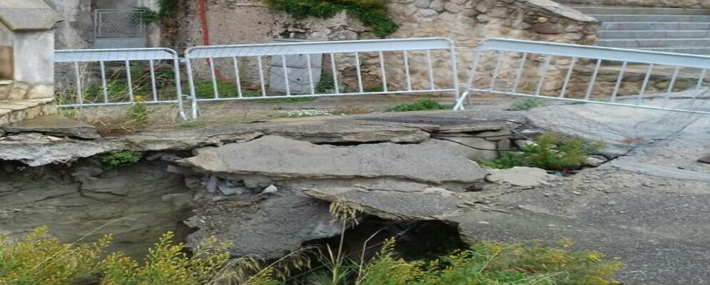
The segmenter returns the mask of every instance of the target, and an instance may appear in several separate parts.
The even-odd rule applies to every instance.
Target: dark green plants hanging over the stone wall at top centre
[[[397,24],[387,16],[387,0],[267,0],[267,3],[297,19],[307,16],[330,18],[340,11],[347,11],[350,16],[372,26],[372,33],[377,36],[397,31]]]

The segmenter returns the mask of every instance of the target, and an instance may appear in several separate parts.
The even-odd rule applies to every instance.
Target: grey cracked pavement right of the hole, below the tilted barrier
[[[622,259],[616,277],[627,285],[710,284],[710,165],[697,161],[710,153],[710,115],[587,104],[536,108],[527,118],[604,140],[617,158],[544,187],[484,195],[505,212],[456,217],[465,237],[570,238],[576,249]]]

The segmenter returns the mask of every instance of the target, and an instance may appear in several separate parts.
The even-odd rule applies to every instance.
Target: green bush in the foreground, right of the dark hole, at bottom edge
[[[540,242],[479,242],[439,259],[420,284],[618,284],[607,276],[616,273],[621,262],[603,257]]]

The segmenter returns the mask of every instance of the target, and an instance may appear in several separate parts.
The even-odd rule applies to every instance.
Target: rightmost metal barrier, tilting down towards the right
[[[681,80],[684,89],[696,90],[684,97],[693,99],[694,105],[704,93],[708,68],[710,56],[488,38],[475,48],[455,110],[462,110],[472,93],[491,93],[710,114],[694,106],[666,106]],[[656,88],[653,82],[660,88],[649,92]]]

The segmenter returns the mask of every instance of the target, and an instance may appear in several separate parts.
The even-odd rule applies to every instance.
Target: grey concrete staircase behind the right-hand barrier
[[[710,55],[710,9],[567,6],[602,21],[598,46]]]

